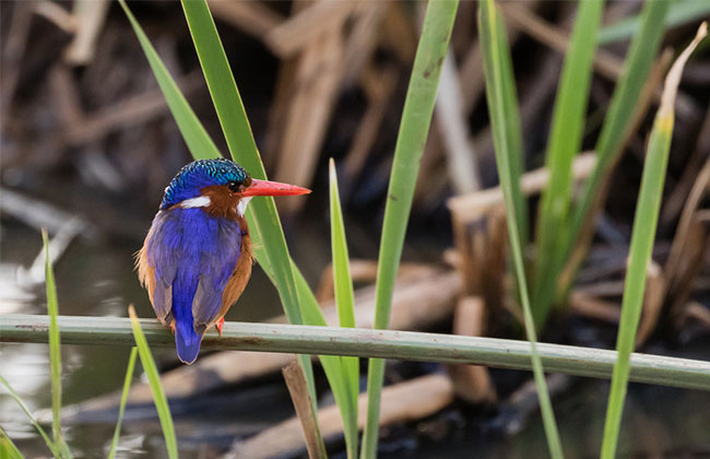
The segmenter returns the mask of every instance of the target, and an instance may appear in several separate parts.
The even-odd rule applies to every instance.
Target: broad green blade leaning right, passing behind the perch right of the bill
[[[429,1],[424,17],[387,192],[377,264],[375,328],[378,329],[387,328],[389,323],[394,279],[402,256],[419,160],[429,131],[441,64],[449,47],[458,7],[458,1]],[[363,435],[363,458],[374,458],[377,454],[384,361],[372,358],[369,361],[368,368],[367,422]]]

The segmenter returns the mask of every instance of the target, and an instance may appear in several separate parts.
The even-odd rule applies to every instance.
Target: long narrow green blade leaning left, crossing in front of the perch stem
[[[483,68],[486,82],[486,99],[490,113],[490,125],[494,132],[494,145],[496,154],[496,164],[498,166],[498,176],[502,189],[504,201],[506,203],[506,214],[508,217],[508,236],[510,238],[510,250],[518,280],[518,290],[523,309],[523,319],[525,332],[531,346],[531,361],[535,386],[537,387],[537,397],[540,398],[540,409],[542,412],[547,445],[551,456],[555,459],[563,457],[561,444],[555,422],[547,384],[543,373],[543,366],[537,354],[535,326],[528,297],[528,285],[522,258],[522,246],[520,242],[520,232],[518,229],[517,215],[514,212],[514,196],[511,170],[510,145],[508,136],[506,136],[506,91],[512,91],[513,82],[511,75],[502,73],[502,55],[509,55],[509,49],[499,49],[501,40],[498,35],[505,33],[505,26],[500,13],[496,10],[492,0],[482,1],[478,10],[478,31],[481,39],[481,50],[483,54]]]

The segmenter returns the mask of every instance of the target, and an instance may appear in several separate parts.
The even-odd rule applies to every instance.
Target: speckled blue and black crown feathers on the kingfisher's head
[[[212,185],[241,185],[249,174],[229,160],[199,160],[184,166],[165,189],[161,209],[167,209],[186,199],[200,196],[200,190]]]

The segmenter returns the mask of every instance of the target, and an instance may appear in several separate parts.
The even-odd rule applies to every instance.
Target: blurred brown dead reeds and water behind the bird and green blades
[[[319,285],[319,299],[331,301],[326,238],[328,160],[334,157],[350,254],[357,259],[352,267],[359,287],[356,299],[371,303],[369,284],[422,5],[209,3],[270,178],[313,189],[308,199],[277,201],[294,259],[311,285]],[[569,308],[553,315],[542,341],[614,346],[646,141],[662,78],[674,54],[695,35],[698,20],[710,15],[708,3],[678,0],[672,5],[694,13],[686,13],[664,35],[662,49],[668,51],[658,56],[654,68],[660,70],[652,71],[654,83],[639,102],[644,109],[638,128],[626,141],[617,167],[605,177],[610,199],[595,221],[592,249],[571,290]],[[141,1],[130,7],[226,154],[180,5]],[[622,35],[615,36],[613,25],[628,24],[640,7],[640,1],[629,0],[608,2],[604,9],[606,35],[594,58],[582,151],[595,145],[634,33],[630,28],[625,35],[622,27]],[[505,267],[502,201],[494,197],[487,203],[476,193],[498,184],[476,10],[475,2],[464,1],[457,15],[422,160],[392,327],[520,338],[518,309],[507,304],[510,295],[501,294],[512,285]],[[576,3],[511,1],[501,2],[501,11],[514,63],[525,170],[531,170],[545,162],[560,51],[568,43]],[[190,154],[126,16],[118,4],[107,1],[2,1],[0,26],[0,313],[44,314],[44,264],[34,260],[42,247],[39,228],[45,226],[52,237],[61,314],[125,316],[126,305],[135,303],[142,317],[151,317],[131,256],[142,244],[163,189]],[[706,40],[685,69],[676,101],[655,262],[639,331],[639,344],[649,352],[702,360],[710,355],[709,89]],[[580,164],[579,170],[581,179],[590,167]],[[485,212],[481,202],[487,205]],[[448,203],[461,212],[455,223]],[[537,207],[534,191],[530,207]],[[684,212],[686,223],[679,225]],[[673,249],[677,240],[682,244]],[[484,306],[472,299],[474,295],[484,297]],[[398,304],[418,309],[398,309]],[[275,290],[256,272],[227,320],[264,320],[279,314]],[[100,346],[64,346],[63,353],[64,403],[84,402],[68,419],[69,443],[88,457],[100,456],[110,440],[116,400],[113,396],[86,400],[120,388],[129,354]],[[234,361],[217,355],[166,377],[186,457],[212,457],[236,448],[235,442],[255,439],[252,435],[292,415],[287,392],[273,373],[281,363],[259,368],[259,362],[252,362],[257,369],[251,373],[224,372]],[[164,369],[177,366],[173,352],[156,357]],[[32,409],[49,405],[48,360],[42,345],[2,348],[2,374]],[[267,357],[251,360],[263,363]],[[424,375],[441,376],[440,369],[395,363],[388,366],[387,380],[394,387]],[[429,379],[410,389],[417,398],[436,402],[415,419],[390,417],[382,457],[403,452],[440,457],[441,451],[469,456],[474,448],[489,457],[546,454],[528,374],[446,369],[447,382]],[[323,378],[319,379],[328,398]],[[549,385],[568,455],[582,457],[587,448],[595,450],[606,385],[557,376]],[[192,397],[198,388],[210,397]],[[152,404],[138,392],[132,397],[123,438],[130,447],[122,454],[152,456],[162,451],[156,446],[159,426]],[[623,450],[641,456],[709,454],[702,428],[707,416],[701,413],[710,412],[710,404],[702,397],[632,386]],[[1,425],[28,457],[33,450],[43,451],[42,442],[4,393],[0,412]],[[239,447],[260,449],[258,444]],[[333,448],[339,451],[339,446]],[[288,451],[298,454],[303,451],[297,448]]]

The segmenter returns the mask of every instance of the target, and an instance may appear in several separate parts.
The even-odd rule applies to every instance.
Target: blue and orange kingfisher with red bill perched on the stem
[[[194,161],[173,178],[135,266],[157,318],[175,333],[180,361],[196,361],[210,327],[222,336],[224,316],[251,276],[249,200],[309,192],[251,178],[228,160]]]

